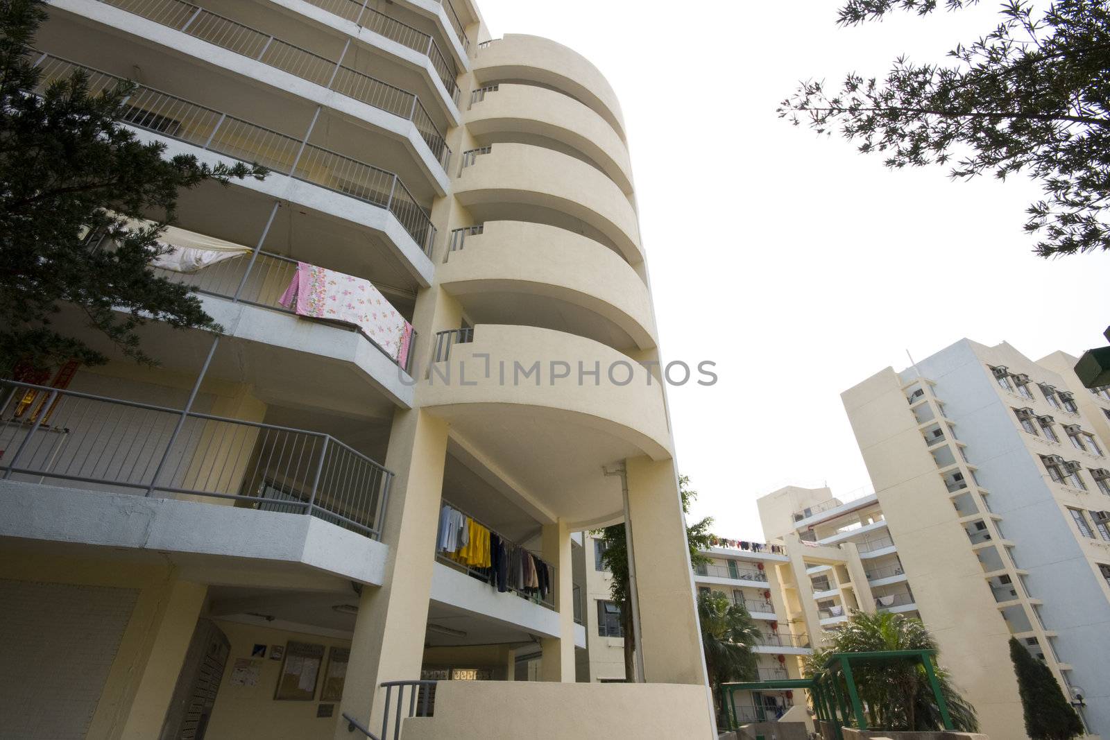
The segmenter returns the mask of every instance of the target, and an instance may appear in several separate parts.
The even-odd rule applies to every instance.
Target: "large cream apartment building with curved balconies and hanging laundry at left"
[[[2,382],[6,732],[710,736],[624,122],[597,69],[490,39],[470,0],[49,16],[43,85],[134,80],[140,140],[271,173],[182,193],[163,237],[158,273],[221,336],[152,323],[158,368],[102,343],[105,366]],[[596,614],[575,619],[593,553],[573,533],[625,511],[646,683],[578,683]]]

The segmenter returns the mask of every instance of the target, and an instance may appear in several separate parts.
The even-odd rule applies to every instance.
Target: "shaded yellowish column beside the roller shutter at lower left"
[[[151,624],[153,641],[142,667],[142,678],[131,702],[120,738],[145,740],[162,731],[165,712],[181,673],[181,663],[204,606],[208,586],[174,581],[165,591],[162,608]]]

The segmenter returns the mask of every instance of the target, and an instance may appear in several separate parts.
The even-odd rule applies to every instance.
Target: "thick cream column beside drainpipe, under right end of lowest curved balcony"
[[[649,683],[706,683],[674,462],[644,456],[628,458],[625,465],[644,677]]]

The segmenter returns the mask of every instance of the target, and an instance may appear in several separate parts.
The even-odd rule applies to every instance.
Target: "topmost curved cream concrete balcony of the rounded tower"
[[[474,79],[481,84],[519,81],[554,88],[592,108],[624,139],[620,103],[608,81],[585,57],[551,39],[506,33],[481,44]]]

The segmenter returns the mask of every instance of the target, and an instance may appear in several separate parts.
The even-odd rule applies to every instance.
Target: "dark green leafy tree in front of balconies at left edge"
[[[258,165],[168,159],[162,144],[140,142],[117,123],[130,83],[91,94],[78,73],[42,85],[29,59],[43,20],[41,0],[0,2],[0,377],[17,363],[107,362],[58,327],[63,307],[142,363],[153,362],[137,333],[149,321],[219,330],[189,288],[151,272],[164,250],[158,236],[173,222],[179,190],[265,176]],[[157,225],[123,229],[142,217]],[[112,236],[118,249],[89,249],[90,233]]]

